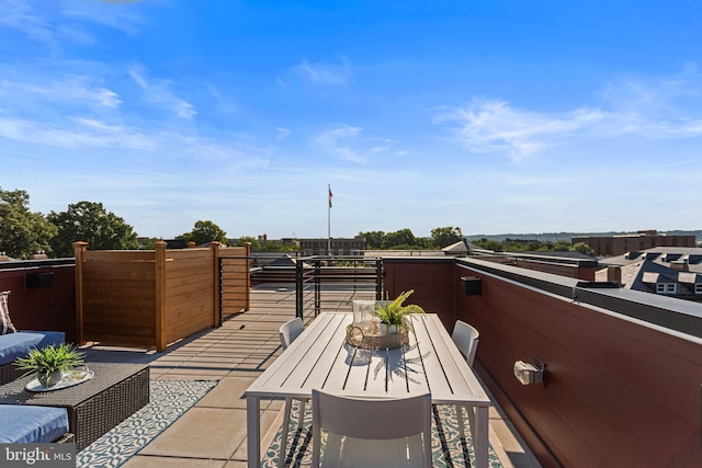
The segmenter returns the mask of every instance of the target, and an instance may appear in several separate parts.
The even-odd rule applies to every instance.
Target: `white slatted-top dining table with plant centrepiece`
[[[244,393],[248,466],[261,464],[260,399],[310,398],[313,389],[364,398],[431,393],[434,404],[474,411],[475,466],[488,466],[490,400],[435,313],[411,316],[409,343],[365,350],[346,341],[352,313],[322,312]]]

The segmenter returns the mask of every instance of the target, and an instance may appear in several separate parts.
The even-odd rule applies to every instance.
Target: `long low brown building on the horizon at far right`
[[[573,244],[582,242],[590,246],[597,256],[616,256],[656,247],[694,247],[694,236],[666,235],[656,230],[618,236],[574,237],[571,240]]]

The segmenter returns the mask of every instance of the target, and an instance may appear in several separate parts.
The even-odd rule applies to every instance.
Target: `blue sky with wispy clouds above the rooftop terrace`
[[[0,187],[140,236],[700,229],[699,1],[0,0]]]

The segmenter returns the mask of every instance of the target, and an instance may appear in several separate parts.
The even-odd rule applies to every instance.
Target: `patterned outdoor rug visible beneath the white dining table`
[[[291,411],[291,426],[288,432],[286,466],[308,467],[312,463],[312,409],[306,406],[305,422],[303,429],[298,429],[298,401],[293,401]],[[468,419],[463,410],[463,421],[466,424],[465,441],[458,434],[458,422],[455,407],[453,404],[438,404],[433,407],[433,418],[431,424],[431,447],[433,452],[433,466],[439,468],[471,467],[473,455],[473,441],[468,429]],[[322,441],[325,433],[322,430]],[[278,455],[281,444],[281,431],[273,437],[271,445],[262,454],[262,466],[264,468],[278,467]],[[502,464],[495,454],[492,446],[488,449],[488,465],[490,468],[502,468]]]

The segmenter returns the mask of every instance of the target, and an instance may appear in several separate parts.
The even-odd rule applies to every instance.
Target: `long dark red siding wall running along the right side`
[[[483,276],[483,295],[456,295],[456,317],[480,332],[476,359],[486,381],[561,464],[702,466],[699,339],[463,267],[454,284],[466,274]],[[547,365],[546,386],[522,386],[513,376],[514,362],[533,356]],[[535,452],[545,466],[555,465],[542,448]]]

